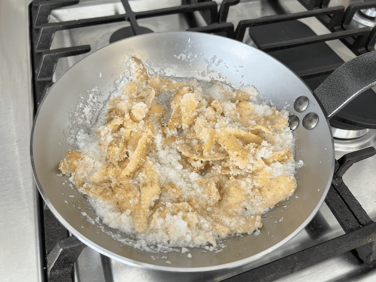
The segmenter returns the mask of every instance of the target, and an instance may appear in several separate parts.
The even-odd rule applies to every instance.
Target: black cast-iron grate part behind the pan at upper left
[[[239,1],[240,0],[225,0],[222,4],[221,10],[226,10],[229,6],[234,5]],[[34,69],[33,86],[36,108],[43,99],[43,94],[46,92],[46,87],[49,88],[51,86],[53,73],[58,60],[68,56],[85,54],[91,50],[89,45],[50,50],[53,37],[57,31],[124,21],[130,23],[130,27],[132,29],[130,35],[141,35],[149,31],[138,25],[138,19],[171,14],[183,14],[189,18],[191,13],[198,11],[202,13],[206,24],[208,24],[207,29],[210,30],[210,32],[227,34],[232,29],[233,33],[232,24],[218,24],[217,3],[214,1],[199,1],[197,3],[183,1],[182,5],[177,7],[133,12],[130,8],[128,0],[121,0],[126,14],[59,23],[48,22],[53,9],[75,5],[77,3],[79,3],[79,0],[34,0],[34,2],[30,5],[30,18],[32,21],[30,33],[32,41],[32,62]],[[194,23],[191,22],[190,25],[191,24]],[[230,37],[232,36],[233,35],[231,34]]]

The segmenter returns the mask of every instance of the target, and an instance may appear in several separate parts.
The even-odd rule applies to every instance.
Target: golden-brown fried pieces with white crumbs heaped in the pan
[[[250,85],[234,91],[213,81],[211,91],[224,97],[205,98],[196,80],[149,77],[135,57],[128,64],[133,81],[108,101],[97,130],[102,151],[69,150],[62,173],[129,215],[130,230],[148,238],[216,246],[216,236],[261,227],[259,214],[296,189],[293,176],[273,168],[292,153],[270,147],[287,114],[250,102],[258,95]]]

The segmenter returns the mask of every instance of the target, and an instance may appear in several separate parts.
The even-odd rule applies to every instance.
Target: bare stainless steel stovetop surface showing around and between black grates
[[[116,3],[114,3],[116,2]],[[218,1],[220,3],[220,1]],[[273,1],[272,1],[273,2]],[[279,1],[285,13],[305,11],[296,0]],[[343,5],[360,1],[332,0],[329,6]],[[142,11],[179,5],[178,0],[143,1],[133,0],[133,11]],[[30,164],[29,139],[33,121],[32,74],[30,62],[29,34],[30,1],[13,0],[0,2],[0,76],[1,130],[0,144],[2,163],[0,167],[0,279],[1,281],[42,281],[44,279],[43,254],[41,250],[41,222],[39,220],[38,191],[35,186]],[[236,27],[240,20],[275,15],[273,5],[262,0],[243,0],[237,9],[231,9],[227,22]],[[89,7],[89,8],[88,8]],[[52,12],[50,22],[79,20],[87,17],[100,17],[124,13],[120,1],[87,0],[76,6],[58,9]],[[205,22],[199,14],[199,25]],[[16,19],[17,24],[9,24]],[[315,18],[301,20],[317,33],[329,31]],[[169,24],[167,24],[167,22]],[[158,31],[186,30],[188,24],[182,16],[171,15],[156,20],[139,20],[139,25]],[[52,48],[90,44],[92,52],[108,44],[111,34],[123,27],[124,23],[110,26],[97,26],[89,29],[76,29],[56,32]],[[326,42],[344,61],[355,55],[338,40]],[[80,55],[59,60],[54,79],[61,76]],[[344,153],[352,152],[357,144],[364,147],[375,146],[376,130],[370,130],[358,142],[337,140],[335,143],[336,159]],[[367,146],[366,146],[367,145]],[[376,220],[376,156],[358,162],[344,175],[344,182],[359,200],[372,220]],[[321,219],[320,219],[321,218]],[[316,220],[324,219],[329,228],[320,237],[312,239],[309,230],[304,229],[293,240],[277,251],[265,256],[258,265],[273,261],[290,253],[305,249],[331,238],[344,234],[343,229],[324,203]],[[253,265],[256,267],[258,265]],[[233,273],[218,271],[206,273],[205,279],[221,280],[249,267],[234,269]],[[96,251],[85,248],[75,264],[76,281],[192,281],[202,280],[202,273],[171,274],[161,271],[146,270],[124,265],[106,258]],[[277,281],[375,281],[376,265],[359,264],[353,255],[344,253],[323,263],[298,271]]]

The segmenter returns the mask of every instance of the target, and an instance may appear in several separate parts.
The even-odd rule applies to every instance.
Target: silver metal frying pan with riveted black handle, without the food
[[[59,175],[58,165],[72,149],[66,140],[68,129],[74,127],[70,114],[76,111],[77,102],[89,91],[98,98],[100,108],[114,90],[114,81],[116,84],[128,74],[123,62],[131,55],[166,76],[222,80],[235,88],[254,85],[270,104],[291,112],[296,159],[304,165],[297,171],[294,195],[262,218],[261,234],[228,239],[224,243],[227,247],[218,253],[191,249],[192,258],[181,252],[166,253],[171,262],[166,264],[166,260],[155,259],[158,255],[114,240],[125,236],[116,230],[100,222],[92,224],[95,212],[85,196],[68,186],[68,177]],[[353,94],[375,84],[375,65],[375,53],[359,56],[335,71],[315,96],[296,74],[271,56],[220,36],[167,32],[115,42],[77,62],[42,100],[31,136],[36,183],[47,206],[68,230],[117,261],[164,271],[213,271],[252,265],[299,233],[320,208],[334,172],[334,143],[327,117],[346,105]],[[85,123],[79,127],[85,129]]]

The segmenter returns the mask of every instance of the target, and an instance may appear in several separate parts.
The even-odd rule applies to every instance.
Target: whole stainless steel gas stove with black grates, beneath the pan
[[[29,138],[33,114],[53,82],[110,42],[175,30],[227,36],[274,56],[314,90],[343,62],[374,50],[375,8],[376,1],[346,0],[1,2],[0,26],[9,27],[0,29],[1,280],[374,281],[376,247],[369,243],[376,238],[374,90],[331,120],[338,170],[314,220],[256,264],[231,270],[166,273],[85,247],[40,199]],[[9,25],[14,19],[17,24]]]

